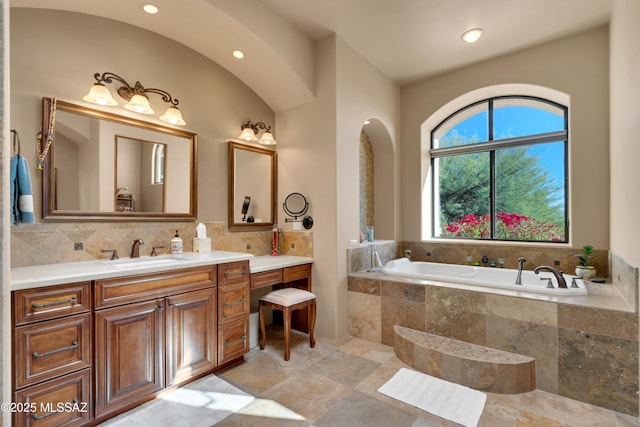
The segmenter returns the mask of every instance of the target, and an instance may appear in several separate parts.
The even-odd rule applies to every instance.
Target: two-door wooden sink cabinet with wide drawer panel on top
[[[215,273],[206,266],[95,282],[97,418],[215,368]]]

